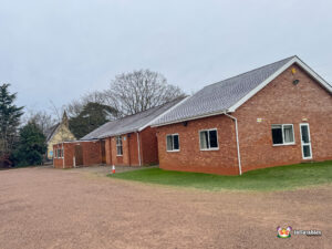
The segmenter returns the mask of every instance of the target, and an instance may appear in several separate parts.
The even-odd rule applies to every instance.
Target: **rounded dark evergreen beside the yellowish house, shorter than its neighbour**
[[[41,165],[46,153],[46,138],[34,122],[29,122],[20,129],[20,139],[13,153],[18,166]]]

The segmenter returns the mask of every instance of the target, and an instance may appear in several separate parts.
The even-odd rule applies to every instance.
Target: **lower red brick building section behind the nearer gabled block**
[[[151,123],[183,98],[108,122],[81,141],[54,145],[54,167],[94,164],[142,166],[158,164],[156,128]]]

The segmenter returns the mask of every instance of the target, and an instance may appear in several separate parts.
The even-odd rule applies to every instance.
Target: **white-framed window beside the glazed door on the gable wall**
[[[273,145],[294,144],[294,132],[292,124],[272,125]]]

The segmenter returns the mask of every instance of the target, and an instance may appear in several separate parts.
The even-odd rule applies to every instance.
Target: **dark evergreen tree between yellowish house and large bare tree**
[[[76,138],[81,138],[116,115],[115,108],[90,102],[84,105],[83,111],[77,116],[70,118],[70,131]]]

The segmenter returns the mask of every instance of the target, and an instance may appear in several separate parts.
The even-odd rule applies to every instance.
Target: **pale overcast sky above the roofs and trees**
[[[0,0],[0,83],[28,108],[163,73],[187,93],[299,55],[332,81],[332,2]]]

